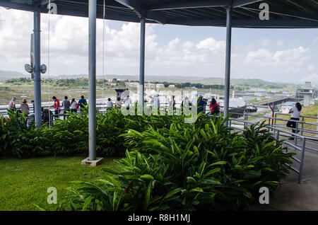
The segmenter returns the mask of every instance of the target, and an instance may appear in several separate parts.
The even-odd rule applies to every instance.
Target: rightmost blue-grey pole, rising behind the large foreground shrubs
[[[225,94],[224,117],[228,116],[230,101],[230,66],[231,66],[231,33],[232,33],[232,8],[226,8],[226,55],[225,55]]]

